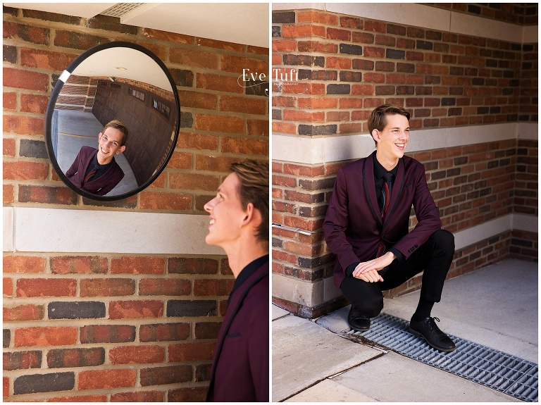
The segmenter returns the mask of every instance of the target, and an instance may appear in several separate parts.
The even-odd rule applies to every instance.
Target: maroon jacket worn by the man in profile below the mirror
[[[212,364],[207,401],[269,401],[268,261],[232,294]]]

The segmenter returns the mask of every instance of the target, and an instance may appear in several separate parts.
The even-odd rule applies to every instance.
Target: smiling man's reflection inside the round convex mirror
[[[78,188],[103,196],[124,177],[115,155],[125,151],[128,128],[119,120],[112,120],[98,135],[98,149],[82,147],[66,172],[66,177]]]

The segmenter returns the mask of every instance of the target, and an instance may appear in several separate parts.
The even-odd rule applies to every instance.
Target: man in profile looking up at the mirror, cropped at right
[[[235,276],[206,399],[268,402],[268,163],[248,160],[230,170],[204,207],[206,243],[225,250]]]

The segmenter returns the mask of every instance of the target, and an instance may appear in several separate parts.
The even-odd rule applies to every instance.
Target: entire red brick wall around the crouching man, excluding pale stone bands
[[[367,133],[368,114],[385,102],[406,107],[413,129],[537,123],[537,44],[295,10],[273,12],[272,48],[273,74],[285,77],[273,82],[273,133]],[[489,141],[410,154],[425,164],[451,232],[510,213],[537,216],[537,141]],[[310,283],[332,277],[334,257],[320,231],[345,163],[273,161],[273,223],[312,232],[273,228],[274,273]],[[504,232],[456,251],[450,275],[508,257],[537,259],[537,232]],[[420,279],[413,279],[390,295],[418,287]],[[344,304],[341,298],[317,308],[275,302],[311,318]]]

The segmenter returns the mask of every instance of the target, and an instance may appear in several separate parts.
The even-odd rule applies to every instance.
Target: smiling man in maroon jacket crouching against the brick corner
[[[336,256],[335,285],[352,304],[348,323],[359,331],[383,309],[382,291],[423,272],[421,297],[410,331],[440,351],[454,342],[430,313],[441,299],[454,255],[454,237],[441,229],[440,211],[425,178],[425,168],[404,149],[409,113],[384,104],[372,111],[368,130],[376,151],[338,170],[323,223],[325,241]],[[418,220],[409,230],[413,206]]]

